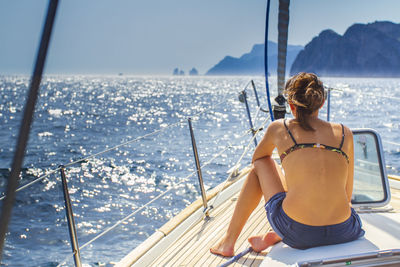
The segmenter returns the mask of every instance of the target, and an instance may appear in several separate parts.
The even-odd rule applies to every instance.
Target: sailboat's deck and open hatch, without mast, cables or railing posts
[[[249,171],[207,194],[208,215],[200,199],[158,229],[116,266],[399,266],[400,177],[386,174],[382,143],[372,129],[354,129],[355,177],[353,207],[360,214],[364,238],[349,243],[297,250],[282,242],[266,251],[231,259],[209,248],[225,233],[237,196]],[[221,193],[219,193],[221,192]],[[215,198],[217,198],[215,200]],[[260,203],[246,223],[236,250],[248,251],[247,238],[270,229]],[[240,253],[239,253],[240,256]]]

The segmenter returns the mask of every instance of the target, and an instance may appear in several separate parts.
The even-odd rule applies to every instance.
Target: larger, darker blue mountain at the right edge
[[[400,24],[354,24],[342,35],[332,30],[314,37],[293,62],[290,74],[400,77]]]

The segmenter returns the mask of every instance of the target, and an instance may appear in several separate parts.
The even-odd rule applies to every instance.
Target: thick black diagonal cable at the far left
[[[19,129],[18,142],[16,145],[13,163],[11,166],[11,173],[8,178],[7,197],[4,200],[0,217],[0,262],[1,256],[3,254],[3,247],[8,229],[8,223],[11,218],[11,211],[15,200],[15,190],[18,187],[19,174],[21,172],[21,166],[25,156],[25,149],[29,139],[30,127],[33,120],[36,100],[39,94],[39,86],[42,79],[43,68],[46,61],[47,50],[49,47],[57,6],[58,0],[49,1],[46,21],[42,32],[42,39],[40,41],[40,46],[36,57],[35,69],[33,71],[32,80],[30,82],[28,98],[25,103],[24,116],[22,118],[21,127]]]

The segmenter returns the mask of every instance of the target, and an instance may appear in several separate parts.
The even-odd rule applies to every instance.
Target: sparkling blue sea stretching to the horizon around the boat
[[[0,196],[29,81],[0,76]],[[388,173],[399,175],[400,79],[322,81],[332,88],[330,120],[377,130]],[[276,77],[268,84],[276,96]],[[2,266],[73,266],[60,165],[84,266],[118,262],[200,197],[189,118],[211,189],[249,164],[255,144],[239,95],[246,92],[259,141],[269,122],[257,103],[268,109],[265,88],[265,78],[248,76],[45,76],[19,180],[27,186],[16,196]],[[327,115],[325,104],[320,117]]]

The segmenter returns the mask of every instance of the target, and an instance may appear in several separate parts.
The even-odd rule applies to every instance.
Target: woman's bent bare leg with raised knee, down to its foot
[[[284,191],[275,161],[264,157],[254,162],[254,168],[243,184],[228,230],[222,240],[210,251],[222,256],[233,256],[234,246],[247,219],[260,202],[261,196],[268,200],[278,192]]]

